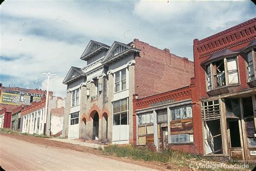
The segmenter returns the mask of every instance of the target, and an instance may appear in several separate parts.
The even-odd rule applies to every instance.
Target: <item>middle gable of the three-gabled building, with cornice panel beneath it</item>
[[[109,45],[96,42],[95,40],[90,40],[80,59],[87,61],[87,65],[91,64],[93,61],[104,57],[109,48]]]

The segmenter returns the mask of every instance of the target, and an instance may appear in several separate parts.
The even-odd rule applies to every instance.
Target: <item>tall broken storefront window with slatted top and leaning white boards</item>
[[[223,154],[219,100],[202,103],[205,154]]]

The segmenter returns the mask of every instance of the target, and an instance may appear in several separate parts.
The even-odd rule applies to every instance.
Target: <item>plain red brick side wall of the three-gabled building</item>
[[[168,49],[160,50],[134,39],[134,45],[142,50],[136,57],[135,93],[140,98],[162,93],[190,84],[194,77],[193,62],[178,57]]]

